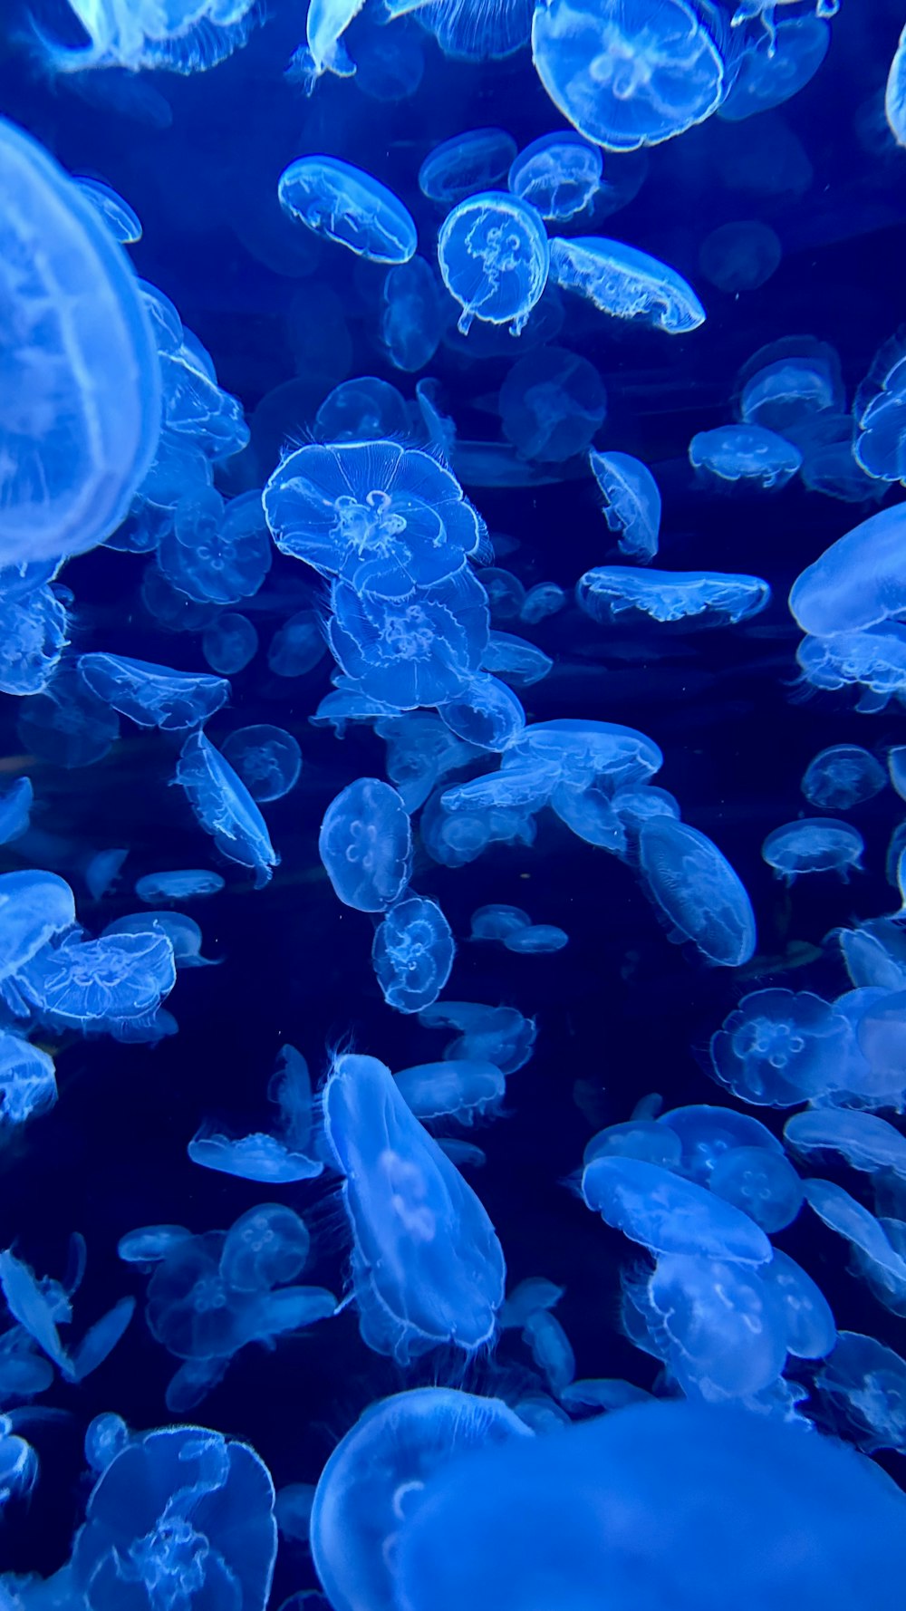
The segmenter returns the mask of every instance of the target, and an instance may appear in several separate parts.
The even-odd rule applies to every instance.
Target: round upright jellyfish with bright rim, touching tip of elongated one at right
[[[548,280],[548,237],[532,206],[506,190],[482,190],[443,219],[437,259],[463,309],[463,335],[472,319],[506,324],[519,335]]]

